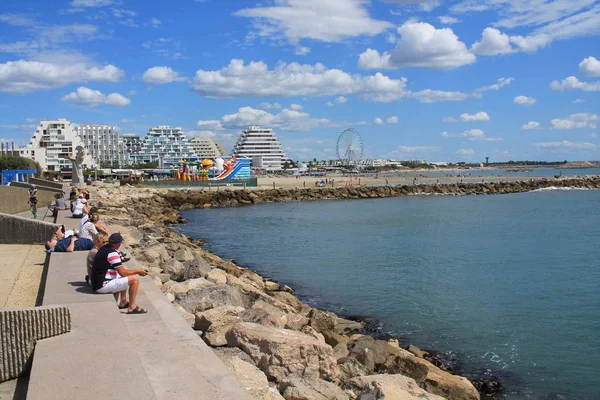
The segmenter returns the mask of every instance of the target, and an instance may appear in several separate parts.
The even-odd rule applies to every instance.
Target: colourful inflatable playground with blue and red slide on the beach
[[[211,160],[184,160],[175,171],[178,181],[228,181],[232,179],[250,179],[250,159],[245,157],[222,157]]]

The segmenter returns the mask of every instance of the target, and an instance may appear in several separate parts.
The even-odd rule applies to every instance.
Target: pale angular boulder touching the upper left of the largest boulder
[[[220,306],[207,311],[196,313],[194,329],[203,331],[202,338],[212,347],[225,346],[225,335],[238,322],[238,314],[244,311],[243,307]]]

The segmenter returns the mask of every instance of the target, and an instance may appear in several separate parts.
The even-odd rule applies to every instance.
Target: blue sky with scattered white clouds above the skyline
[[[7,4],[10,3],[10,4]],[[295,160],[600,159],[594,0],[68,0],[0,5],[0,140],[43,118],[231,148],[248,125]]]

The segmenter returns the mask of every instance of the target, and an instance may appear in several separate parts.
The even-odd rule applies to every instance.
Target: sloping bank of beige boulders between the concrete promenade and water
[[[276,198],[276,192],[260,196]],[[429,362],[419,349],[411,346],[411,352],[395,340],[364,335],[362,323],[312,308],[289,287],[221,259],[169,228],[181,222],[183,204],[173,204],[177,194],[122,188],[92,195],[109,228],[123,234],[129,251],[190,329],[256,398],[480,398],[471,382]],[[203,195],[186,196],[208,201]]]

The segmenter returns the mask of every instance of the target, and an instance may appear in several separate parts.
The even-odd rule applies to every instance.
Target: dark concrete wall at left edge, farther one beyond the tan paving
[[[45,243],[58,225],[0,213],[1,244],[37,244]]]

